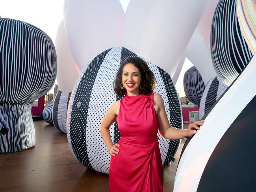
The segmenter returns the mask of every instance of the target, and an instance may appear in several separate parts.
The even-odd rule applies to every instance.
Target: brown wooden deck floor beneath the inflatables
[[[34,122],[36,144],[16,153],[0,154],[2,192],[108,192],[108,174],[85,168],[72,155],[66,134],[43,120]],[[184,125],[186,126],[186,125]],[[165,192],[173,191],[184,140],[175,162],[164,170]]]

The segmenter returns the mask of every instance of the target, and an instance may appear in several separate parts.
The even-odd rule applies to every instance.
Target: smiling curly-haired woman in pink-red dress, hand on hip
[[[204,121],[188,129],[171,127],[163,99],[153,93],[156,79],[139,57],[126,59],[117,72],[115,93],[124,98],[113,103],[101,122],[100,133],[111,155],[110,192],[163,192],[160,134],[170,140],[191,137]],[[113,144],[109,127],[117,120],[121,138]]]

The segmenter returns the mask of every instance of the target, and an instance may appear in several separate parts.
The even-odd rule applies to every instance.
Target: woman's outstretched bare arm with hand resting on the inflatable
[[[167,139],[170,140],[179,140],[182,138],[192,137],[197,133],[197,130],[200,129],[198,126],[202,126],[204,120],[197,121],[192,124],[189,124],[187,130],[186,129],[176,129],[171,127],[169,120],[167,118],[167,114],[165,112],[165,105],[163,103],[163,98],[160,94],[154,93],[154,100],[157,105],[157,116],[158,116],[158,128],[160,134]]]

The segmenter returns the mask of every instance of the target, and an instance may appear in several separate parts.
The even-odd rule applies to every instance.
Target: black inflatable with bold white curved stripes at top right
[[[211,57],[219,81],[230,85],[252,53],[237,18],[236,0],[220,0],[211,26]]]

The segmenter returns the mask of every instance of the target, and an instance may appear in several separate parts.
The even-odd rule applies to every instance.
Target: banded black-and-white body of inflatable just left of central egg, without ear
[[[54,127],[62,132],[67,133],[67,109],[69,106],[70,92],[58,91],[54,99],[52,118]]]

